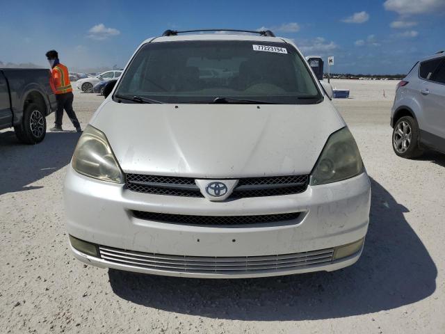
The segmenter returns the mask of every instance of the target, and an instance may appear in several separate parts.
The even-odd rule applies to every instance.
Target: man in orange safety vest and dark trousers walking
[[[46,56],[52,69],[51,88],[54,91],[54,94],[56,94],[57,100],[56,122],[54,122],[54,127],[52,127],[50,130],[53,132],[63,131],[62,118],[63,109],[65,109],[68,117],[72,122],[72,125],[74,125],[74,127],[76,128],[76,132],[81,132],[81,125],[79,124],[79,120],[77,120],[76,113],[74,113],[74,110],[72,109],[72,101],[74,99],[74,95],[72,94],[70,74],[68,73],[68,69],[65,65],[59,62],[58,53],[56,50],[48,51]]]

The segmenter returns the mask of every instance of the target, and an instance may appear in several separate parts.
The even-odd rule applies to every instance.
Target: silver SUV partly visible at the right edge
[[[417,62],[398,84],[391,127],[400,157],[419,157],[424,148],[445,153],[444,51]]]

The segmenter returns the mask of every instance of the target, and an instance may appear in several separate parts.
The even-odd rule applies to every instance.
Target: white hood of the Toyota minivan
[[[91,125],[125,173],[202,178],[309,174],[345,123],[320,104],[122,104],[108,99]]]

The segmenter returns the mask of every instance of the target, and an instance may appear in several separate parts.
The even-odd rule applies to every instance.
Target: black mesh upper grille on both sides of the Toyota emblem
[[[308,181],[309,175],[245,177],[239,179],[229,199],[302,193],[307,189]],[[127,188],[156,195],[204,197],[193,177],[127,174]]]

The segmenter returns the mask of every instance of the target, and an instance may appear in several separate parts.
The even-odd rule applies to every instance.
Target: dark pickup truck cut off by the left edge
[[[22,143],[43,140],[46,117],[57,106],[50,76],[44,69],[0,68],[0,129],[14,127]]]

